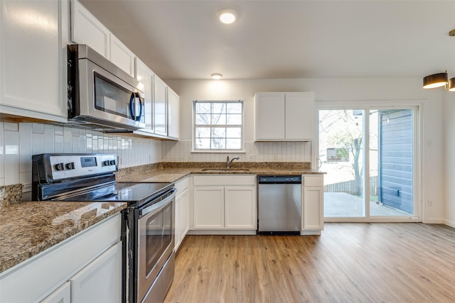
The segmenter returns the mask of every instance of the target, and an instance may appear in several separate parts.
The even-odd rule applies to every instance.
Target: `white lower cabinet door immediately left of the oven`
[[[122,242],[77,272],[70,282],[72,303],[122,302]]]

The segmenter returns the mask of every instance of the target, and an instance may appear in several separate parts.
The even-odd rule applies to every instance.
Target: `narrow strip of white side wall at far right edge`
[[[444,94],[444,224],[455,227],[455,94]]]

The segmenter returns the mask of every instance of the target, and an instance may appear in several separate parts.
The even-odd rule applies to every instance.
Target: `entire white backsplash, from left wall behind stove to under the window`
[[[191,141],[159,141],[46,123],[0,122],[0,187],[31,187],[31,156],[40,153],[117,153],[119,168],[157,162],[311,162],[309,142],[245,142],[242,153],[192,153]]]

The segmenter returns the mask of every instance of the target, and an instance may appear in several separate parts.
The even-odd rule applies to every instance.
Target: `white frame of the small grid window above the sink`
[[[204,103],[240,103],[242,104],[242,124],[204,124],[206,127],[226,127],[226,128],[239,128],[240,131],[240,148],[228,149],[228,148],[196,148],[196,104],[198,102]],[[193,101],[193,148],[192,153],[229,153],[229,152],[242,152],[244,148],[244,133],[245,133],[245,104],[243,100],[194,100]]]

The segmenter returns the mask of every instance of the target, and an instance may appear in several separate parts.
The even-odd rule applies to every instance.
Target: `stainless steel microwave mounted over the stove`
[[[143,85],[87,45],[68,45],[68,122],[101,131],[145,127]]]

